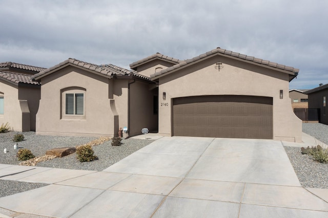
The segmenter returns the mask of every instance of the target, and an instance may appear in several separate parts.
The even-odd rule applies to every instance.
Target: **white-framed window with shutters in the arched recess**
[[[84,115],[84,94],[83,93],[66,93],[67,115]]]

